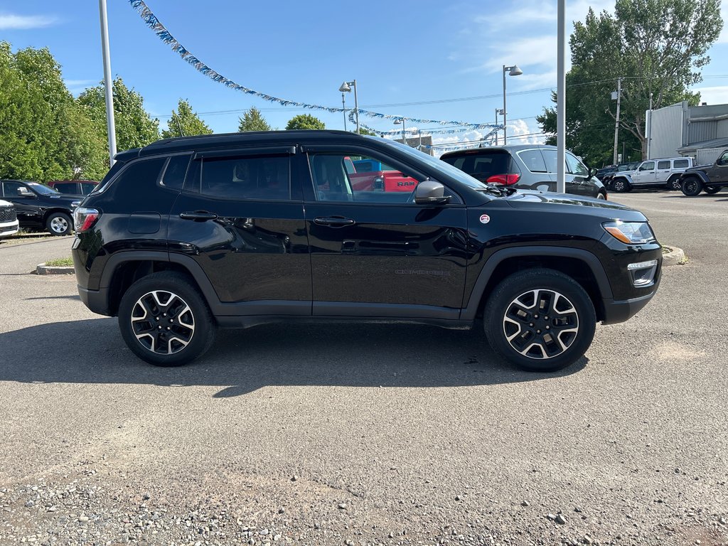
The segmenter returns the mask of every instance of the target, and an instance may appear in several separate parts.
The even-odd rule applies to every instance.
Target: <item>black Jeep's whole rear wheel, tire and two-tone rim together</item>
[[[135,355],[157,366],[190,363],[215,339],[205,300],[189,277],[175,272],[152,273],[130,286],[119,304],[119,330]]]

